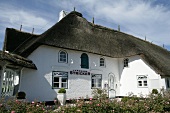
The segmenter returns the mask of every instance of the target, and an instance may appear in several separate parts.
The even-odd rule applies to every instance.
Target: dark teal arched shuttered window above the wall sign
[[[81,68],[89,69],[89,58],[86,53],[81,55]]]

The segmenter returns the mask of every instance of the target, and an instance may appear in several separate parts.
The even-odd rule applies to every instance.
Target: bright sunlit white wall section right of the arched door
[[[163,79],[140,57],[133,56],[128,58],[129,66],[123,68],[123,59],[119,59],[120,65],[120,95],[128,96],[131,92],[134,95],[140,96],[141,94],[146,96],[152,89],[160,89],[163,85]],[[137,75],[146,75],[148,81],[148,87],[138,87]]]

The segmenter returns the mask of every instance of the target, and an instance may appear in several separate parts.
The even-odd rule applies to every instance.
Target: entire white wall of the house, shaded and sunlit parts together
[[[58,52],[68,53],[68,63],[58,62]],[[20,91],[25,91],[27,99],[52,101],[57,97],[59,89],[52,88],[52,71],[68,72],[67,99],[92,97],[91,75],[70,74],[73,70],[85,70],[91,74],[102,74],[102,88],[109,83],[109,75],[114,77],[116,96],[148,95],[152,89],[166,88],[165,78],[160,77],[140,56],[129,57],[129,67],[123,67],[123,58],[110,58],[97,54],[86,53],[89,57],[89,69],[81,68],[82,51],[61,49],[50,46],[40,46],[31,55],[31,59],[38,70],[23,69]],[[100,57],[105,58],[106,67],[99,66]],[[137,75],[146,75],[148,87],[138,87]]]

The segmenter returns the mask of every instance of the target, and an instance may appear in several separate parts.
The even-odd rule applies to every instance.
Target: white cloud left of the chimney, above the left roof
[[[22,24],[22,30],[26,32],[31,32],[34,27],[36,33],[42,33],[42,31],[47,30],[52,25],[52,22],[50,23],[45,18],[39,16],[38,12],[25,11],[7,4],[0,5],[0,7],[0,24],[3,27],[19,29]]]

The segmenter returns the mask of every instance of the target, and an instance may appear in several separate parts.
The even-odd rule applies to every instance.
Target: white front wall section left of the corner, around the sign
[[[23,69],[20,90],[25,91],[27,99],[32,101],[51,101],[57,97],[58,89],[52,89],[52,71],[68,72],[67,99],[91,97],[91,75],[73,75],[72,70],[86,70],[94,74],[102,74],[102,88],[108,83],[108,75],[115,76],[114,84],[119,84],[118,59],[104,57],[106,67],[99,66],[100,55],[81,51],[67,50],[68,63],[58,62],[58,52],[61,48],[40,46],[28,58],[31,59],[38,70]],[[89,69],[82,69],[80,56],[86,53],[89,57]],[[119,95],[119,86],[116,85],[116,95]]]

